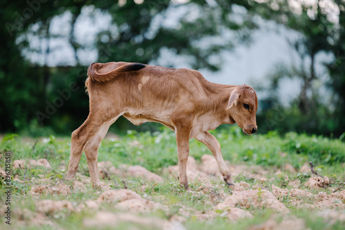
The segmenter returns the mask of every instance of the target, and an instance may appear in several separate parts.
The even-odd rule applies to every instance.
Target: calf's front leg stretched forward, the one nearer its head
[[[226,166],[223,156],[221,156],[221,148],[218,140],[212,136],[209,132],[199,132],[195,137],[201,143],[206,145],[210,151],[212,151],[213,156],[217,160],[221,175],[223,175],[224,181],[229,185],[233,186],[233,175],[231,175],[230,170]]]

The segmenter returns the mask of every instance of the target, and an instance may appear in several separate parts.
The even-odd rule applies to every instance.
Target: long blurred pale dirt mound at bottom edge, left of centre
[[[169,222],[168,220],[159,218],[135,216],[130,213],[99,211],[92,218],[88,217],[83,220],[83,224],[86,227],[111,227],[112,229],[124,222],[138,224],[140,227],[146,227],[147,229],[177,229],[175,227],[177,223],[175,222]]]

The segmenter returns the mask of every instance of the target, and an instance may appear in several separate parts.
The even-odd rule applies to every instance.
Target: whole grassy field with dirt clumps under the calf
[[[295,133],[245,136],[234,126],[212,134],[236,178],[234,189],[196,140],[190,140],[191,191],[179,187],[175,134],[167,129],[103,140],[101,191],[92,189],[85,155],[77,180],[64,180],[70,137],[4,136],[0,167],[6,169],[11,153],[12,197],[6,205],[1,180],[0,229],[344,229],[344,142]],[[51,167],[30,161],[42,158]],[[311,173],[310,161],[323,178]]]

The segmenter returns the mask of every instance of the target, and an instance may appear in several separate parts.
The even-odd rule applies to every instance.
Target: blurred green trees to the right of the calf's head
[[[261,1],[255,10],[267,20],[274,20],[302,36],[291,43],[302,60],[299,65],[277,65],[268,74],[273,92],[264,100],[260,116],[266,128],[280,132],[297,131],[341,135],[345,131],[344,115],[344,9],[345,1]],[[315,59],[323,53],[331,56],[324,63],[328,73],[317,74]],[[299,79],[302,87],[289,107],[283,107],[277,90],[279,81]],[[325,91],[331,92],[326,98]],[[339,106],[340,105],[340,106]],[[283,114],[279,115],[279,113]],[[277,122],[284,119],[284,122]]]

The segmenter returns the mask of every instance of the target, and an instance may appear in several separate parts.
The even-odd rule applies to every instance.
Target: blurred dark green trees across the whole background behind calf
[[[0,17],[5,26],[0,29],[0,130],[70,134],[81,125],[88,115],[83,81],[90,61],[85,60],[93,53],[92,61],[155,64],[163,52],[170,52],[194,69],[215,72],[224,65],[219,61],[221,52],[250,43],[253,31],[261,26],[259,17],[299,32],[300,39],[292,41],[291,47],[302,60],[298,66],[277,64],[268,73],[270,85],[257,85],[263,92],[270,92],[270,96],[259,98],[260,130],[339,136],[345,127],[344,1],[331,1],[333,11],[325,2],[1,1]],[[86,20],[85,11],[87,20],[98,27],[93,31],[95,37],[92,31],[84,33],[87,44],[77,36],[80,21]],[[53,25],[65,17],[66,25],[57,30]],[[101,17],[104,20],[99,23]],[[73,58],[52,65],[52,53],[62,50],[55,45],[58,41],[67,41]],[[324,63],[328,68],[326,78],[315,72],[319,53],[331,56],[331,61]],[[166,67],[175,67],[175,62]],[[283,106],[278,91],[279,83],[286,78],[299,79],[302,86],[299,95]],[[324,83],[332,93],[331,101],[320,94]],[[128,127],[124,120],[115,124],[121,130]]]

